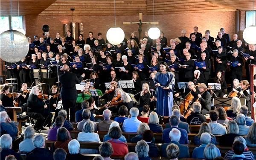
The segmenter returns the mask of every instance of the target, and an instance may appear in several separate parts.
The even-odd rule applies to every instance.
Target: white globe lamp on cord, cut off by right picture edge
[[[253,25],[247,26],[244,29],[243,38],[247,44],[256,44],[256,26],[254,25],[254,0],[253,0]]]

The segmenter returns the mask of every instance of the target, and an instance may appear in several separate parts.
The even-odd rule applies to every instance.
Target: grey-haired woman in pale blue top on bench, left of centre
[[[84,123],[82,132],[79,132],[77,136],[79,142],[100,142],[99,134],[94,133],[94,124],[92,121]],[[97,149],[80,149],[81,154],[98,154]]]

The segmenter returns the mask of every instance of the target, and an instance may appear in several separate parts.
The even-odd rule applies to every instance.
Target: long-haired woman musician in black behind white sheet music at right
[[[218,71],[214,79],[214,83],[221,84],[221,90],[215,90],[214,93],[218,97],[223,97],[227,93],[227,83],[221,71]]]

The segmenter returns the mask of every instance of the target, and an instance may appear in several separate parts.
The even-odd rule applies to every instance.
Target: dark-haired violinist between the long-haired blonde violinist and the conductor
[[[56,109],[58,102],[61,100],[60,94],[58,93],[58,86],[53,85],[51,88],[51,93],[49,94],[49,110],[50,112],[55,112],[53,122],[55,122],[55,118],[58,116],[58,112],[61,109]]]

